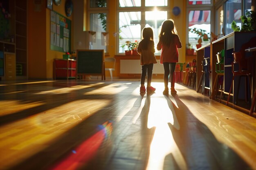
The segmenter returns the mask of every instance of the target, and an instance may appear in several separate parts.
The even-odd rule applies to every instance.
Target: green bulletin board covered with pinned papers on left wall
[[[51,11],[50,49],[60,52],[71,51],[71,20]]]

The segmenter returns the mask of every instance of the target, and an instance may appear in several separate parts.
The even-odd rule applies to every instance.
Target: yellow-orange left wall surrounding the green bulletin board
[[[50,50],[50,10],[46,8],[46,0],[42,0],[41,11],[34,11],[33,2],[28,3],[28,78],[52,79],[54,58],[62,58],[64,53]],[[54,3],[52,6],[67,17],[64,0],[59,6]],[[73,15],[67,18],[72,21]]]

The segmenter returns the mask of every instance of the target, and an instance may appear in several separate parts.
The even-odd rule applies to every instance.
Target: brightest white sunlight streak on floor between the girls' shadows
[[[146,170],[163,170],[166,157],[173,155],[175,163],[180,170],[186,170],[186,162],[173,139],[168,123],[179,128],[171,100],[164,97],[151,97],[150,110],[148,113],[148,128],[155,127],[155,134],[150,145],[150,155]],[[168,104],[166,104],[168,103]],[[170,108],[171,106],[171,108]]]

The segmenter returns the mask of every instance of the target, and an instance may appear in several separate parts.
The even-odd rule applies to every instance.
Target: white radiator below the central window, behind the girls
[[[153,74],[164,74],[163,64],[154,64]],[[120,60],[120,74],[141,74],[140,60]]]

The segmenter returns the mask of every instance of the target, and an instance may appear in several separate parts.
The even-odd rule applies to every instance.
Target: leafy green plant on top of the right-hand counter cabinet
[[[245,12],[246,16],[241,16],[241,21],[243,23],[243,25],[238,26],[236,24],[236,22],[233,20],[233,22],[231,23],[231,28],[233,29],[233,31],[256,31],[256,13],[255,11],[246,11]]]

